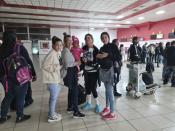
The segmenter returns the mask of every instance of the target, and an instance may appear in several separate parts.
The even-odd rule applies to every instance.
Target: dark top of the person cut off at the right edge
[[[166,51],[167,66],[175,66],[175,47],[171,46]]]

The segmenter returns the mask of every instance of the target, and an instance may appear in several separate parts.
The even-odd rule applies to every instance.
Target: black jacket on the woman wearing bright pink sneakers
[[[121,54],[118,47],[114,44],[103,45],[100,48],[100,53],[108,53],[108,56],[102,60],[99,60],[100,67],[102,69],[110,69],[114,62],[121,61]]]

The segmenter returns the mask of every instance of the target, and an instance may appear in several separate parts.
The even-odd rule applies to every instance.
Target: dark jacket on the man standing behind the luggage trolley
[[[141,59],[141,52],[136,44],[132,44],[129,49],[131,62],[138,62]]]

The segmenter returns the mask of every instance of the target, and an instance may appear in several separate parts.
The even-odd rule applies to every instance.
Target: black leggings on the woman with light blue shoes
[[[98,97],[97,94],[97,79],[98,73],[97,72],[88,72],[84,75],[85,79],[85,88],[87,95],[93,94],[94,98]]]

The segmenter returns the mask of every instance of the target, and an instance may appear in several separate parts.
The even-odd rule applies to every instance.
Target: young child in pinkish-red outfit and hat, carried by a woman
[[[81,59],[83,50],[80,48],[79,39],[75,36],[72,36],[72,48],[70,51],[73,54],[75,61],[79,62]],[[77,68],[78,68],[78,72],[80,72],[80,67],[77,66]]]

